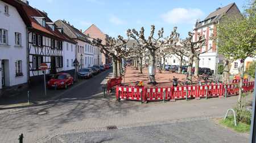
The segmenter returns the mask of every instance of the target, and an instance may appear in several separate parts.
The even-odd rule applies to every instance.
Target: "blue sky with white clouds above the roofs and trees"
[[[203,20],[210,12],[235,2],[243,11],[245,0],[28,0],[32,7],[44,10],[53,21],[65,19],[77,29],[85,31],[91,24],[96,24],[106,34],[126,38],[126,30],[139,29],[143,26],[146,34],[154,24],[158,31],[164,28],[168,36],[174,26],[187,37],[192,31],[196,19]],[[156,32],[157,33],[157,32]],[[156,34],[155,33],[155,34]]]

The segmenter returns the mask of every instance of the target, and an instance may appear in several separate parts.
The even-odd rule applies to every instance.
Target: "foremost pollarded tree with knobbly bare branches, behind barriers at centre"
[[[164,40],[163,38],[163,28],[158,31],[158,38],[154,38],[155,33],[155,25],[151,25],[151,31],[150,36],[146,39],[144,36],[144,28],[141,28],[141,31],[137,32],[135,29],[127,30],[127,36],[130,38],[134,38],[134,40],[137,40],[139,44],[141,44],[143,47],[145,47],[149,53],[150,53],[150,65],[148,67],[148,73],[150,76],[150,83],[157,84],[155,81],[155,52],[160,47],[165,47],[167,45],[172,44],[175,38],[178,38],[176,34],[176,28],[175,31],[172,32],[171,36],[166,38],[167,40]]]

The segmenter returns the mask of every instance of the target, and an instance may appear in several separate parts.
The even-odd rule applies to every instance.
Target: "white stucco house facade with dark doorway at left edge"
[[[8,12],[5,12],[5,5]],[[0,1],[0,30],[6,31],[6,42],[0,44],[0,89],[27,83],[27,30],[15,7]],[[19,33],[19,45],[15,42]],[[19,62],[18,62],[19,61]],[[19,70],[17,69],[19,68]]]

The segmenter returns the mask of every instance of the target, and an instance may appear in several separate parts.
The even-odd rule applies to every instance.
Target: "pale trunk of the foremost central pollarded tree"
[[[150,65],[148,66],[148,75],[150,76],[150,83],[156,84],[155,81],[155,51],[150,51]]]

